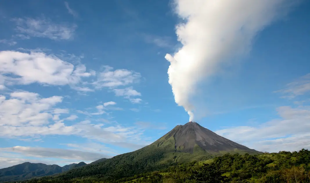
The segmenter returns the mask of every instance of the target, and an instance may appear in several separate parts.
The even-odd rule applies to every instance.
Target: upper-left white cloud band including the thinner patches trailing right
[[[71,89],[79,92],[94,92],[95,89],[107,87],[117,96],[140,96],[141,93],[127,87],[139,82],[141,75],[126,69],[113,70],[112,67],[104,66],[103,72],[96,73],[91,70],[86,72],[86,66],[80,63],[81,57],[71,55],[70,58],[60,55],[62,59],[53,54],[46,54],[42,50],[1,51],[0,52],[0,89],[6,85],[29,85],[39,83],[42,85],[69,85]],[[70,62],[78,61],[78,65]],[[97,77],[96,77],[97,75]],[[92,82],[85,81],[93,78]],[[132,99],[133,103],[141,99]]]

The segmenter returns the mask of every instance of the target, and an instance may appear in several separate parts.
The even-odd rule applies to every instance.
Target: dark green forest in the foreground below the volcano
[[[145,172],[139,169],[141,173],[134,171],[139,167],[130,167],[126,163],[119,163],[122,164],[123,174],[120,171],[108,175],[100,172],[80,172],[83,176],[70,178],[64,173],[24,182],[310,183],[310,151],[308,149],[298,152],[281,151],[254,155],[227,153],[201,162],[192,161],[170,167],[154,167],[157,169],[156,171]]]

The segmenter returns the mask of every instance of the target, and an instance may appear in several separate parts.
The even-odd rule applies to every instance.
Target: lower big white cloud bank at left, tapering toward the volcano
[[[108,144],[143,143],[143,134],[135,127],[92,123],[81,121],[66,125],[66,121],[78,119],[71,114],[60,119],[60,114],[68,112],[55,108],[62,102],[62,97],[42,98],[39,94],[19,91],[8,97],[0,95],[0,137],[40,138],[45,135],[76,135]],[[98,113],[103,113],[104,106],[96,106]],[[54,114],[54,116],[53,116]],[[92,114],[96,115],[96,114]]]

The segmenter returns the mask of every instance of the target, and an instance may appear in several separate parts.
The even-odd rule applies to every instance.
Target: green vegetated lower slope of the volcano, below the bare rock
[[[109,158],[104,162],[70,170],[54,179],[67,181],[79,177],[96,177],[112,181],[122,177],[162,170],[178,163],[211,159],[221,153],[223,152],[208,153],[198,145],[194,146],[192,153],[185,153],[175,148],[173,136],[163,136],[142,149]]]

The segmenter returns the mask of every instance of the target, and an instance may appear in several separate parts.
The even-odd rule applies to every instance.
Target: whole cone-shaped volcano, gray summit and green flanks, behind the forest
[[[87,176],[118,179],[159,170],[179,162],[207,160],[225,153],[261,152],[219,136],[196,122],[188,122],[185,125],[176,126],[144,148],[69,170],[53,179],[69,180]],[[50,178],[46,177],[46,180]]]

